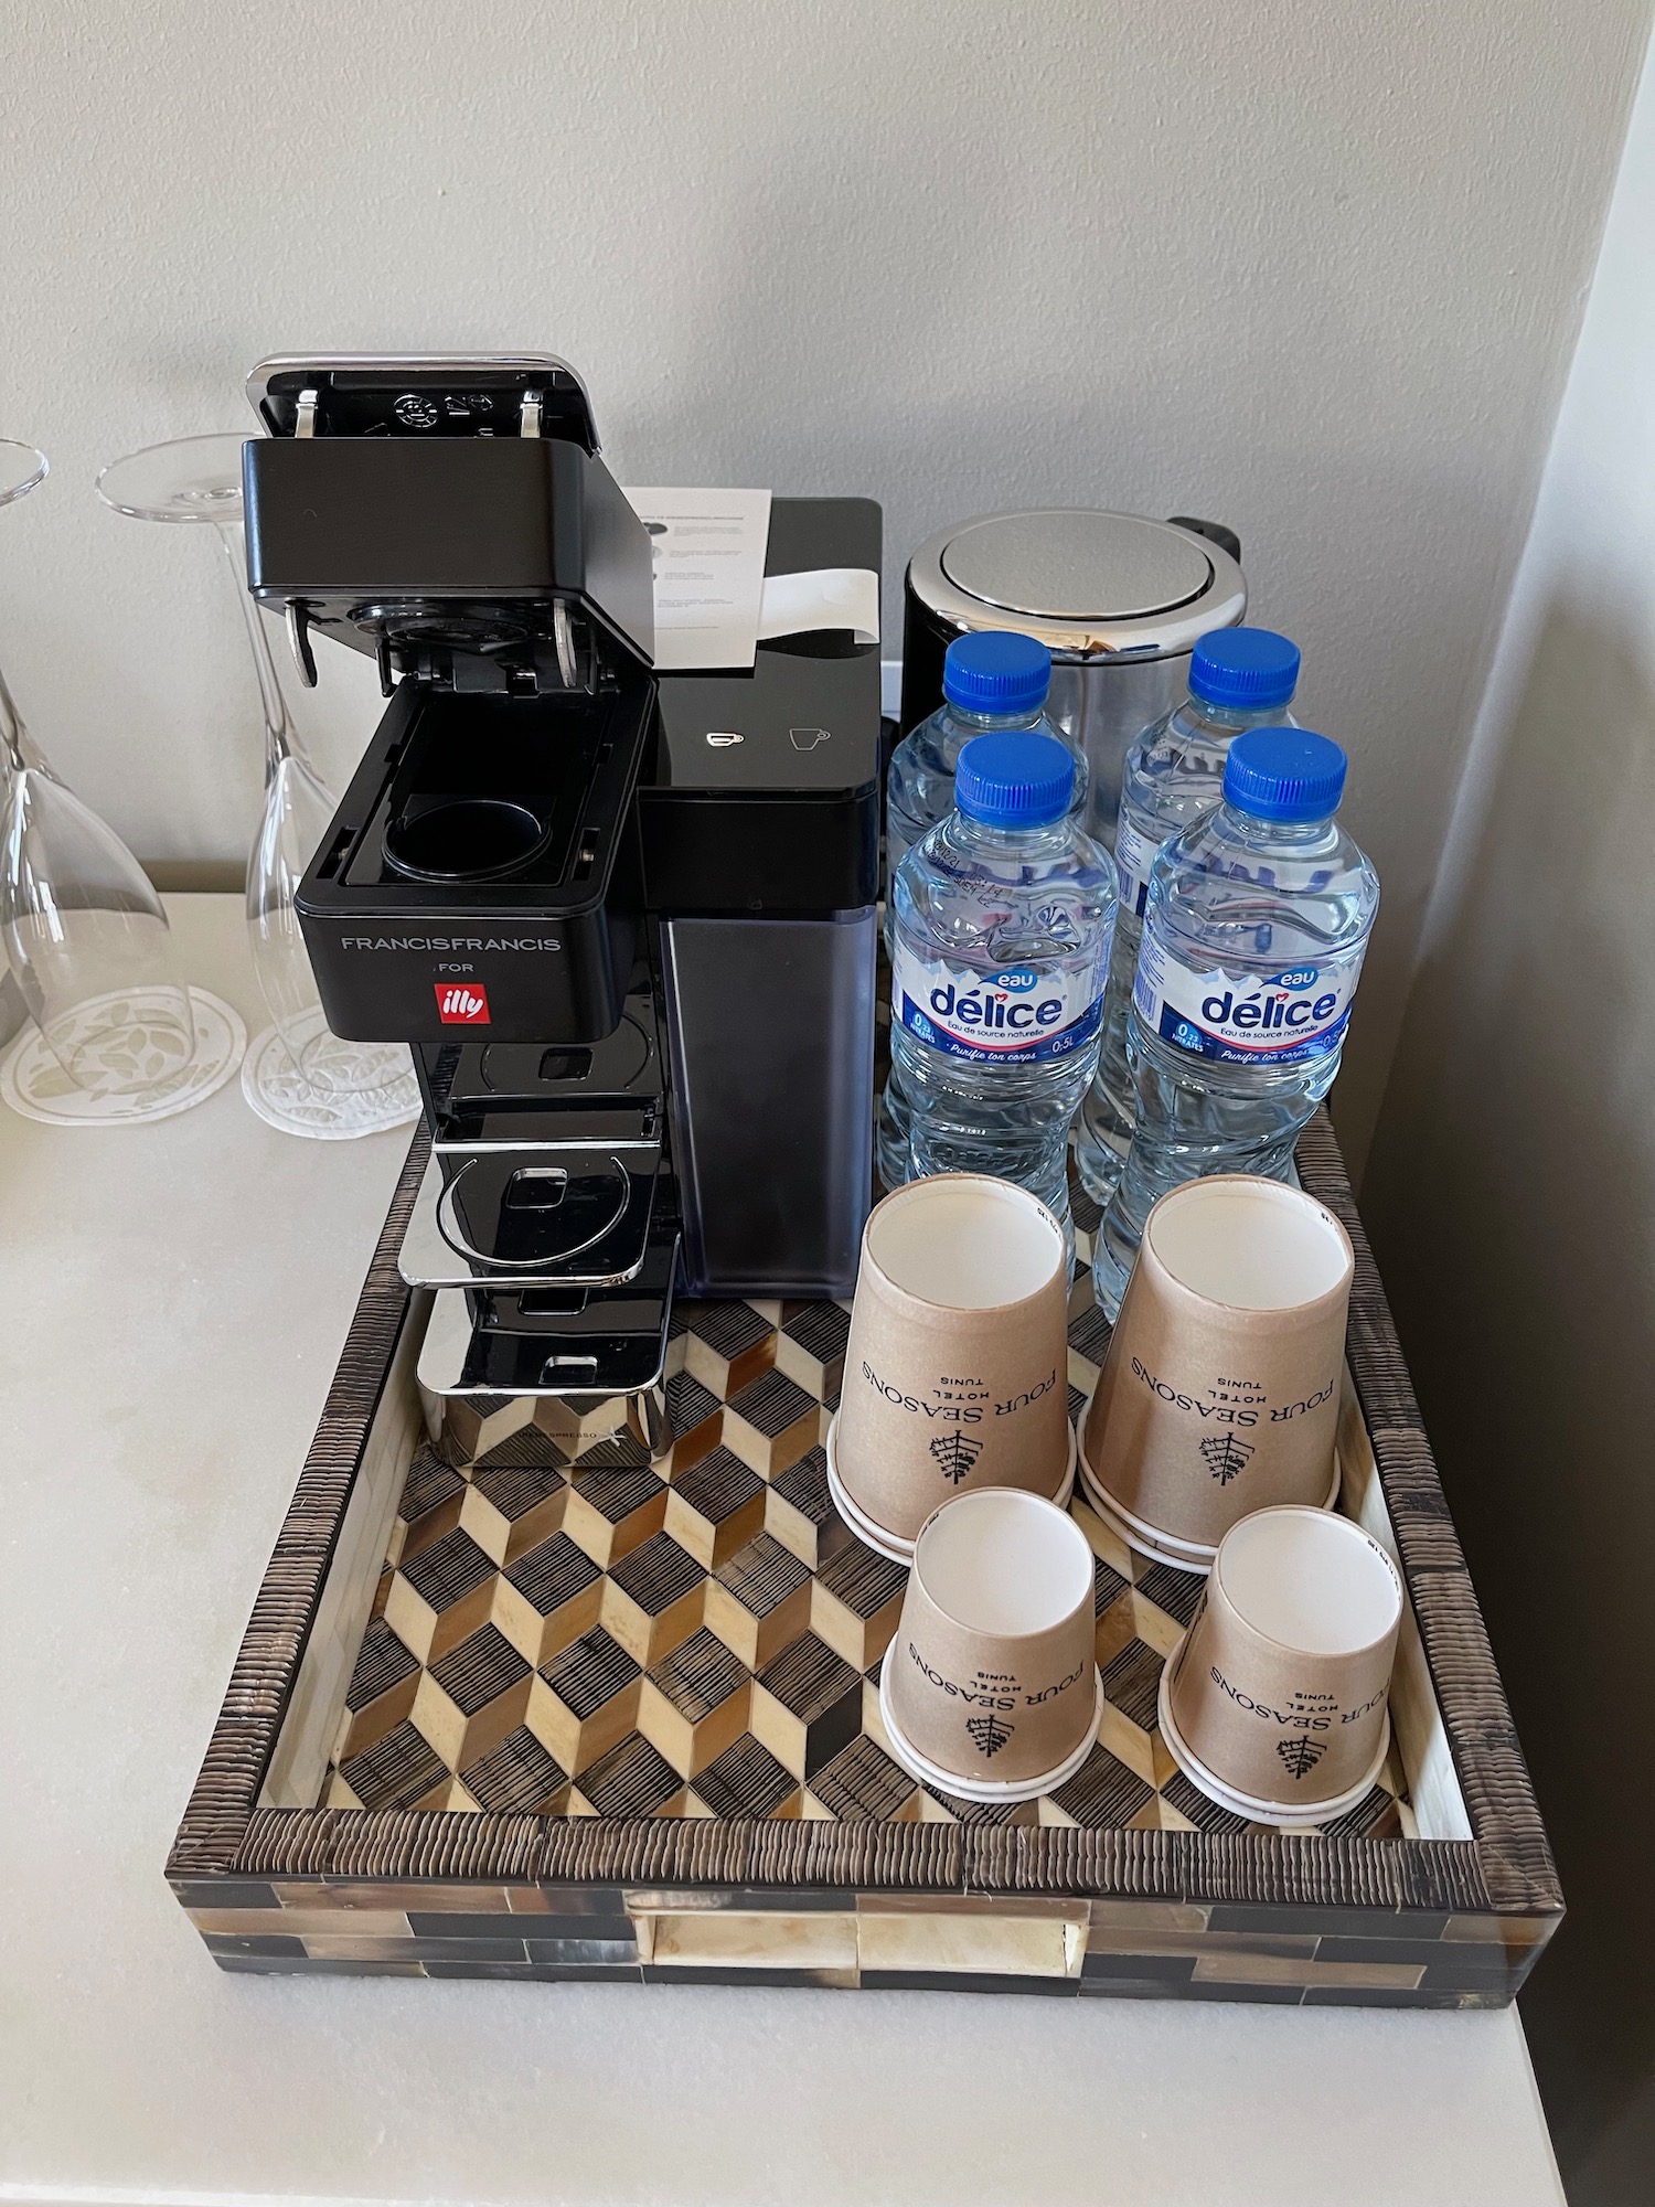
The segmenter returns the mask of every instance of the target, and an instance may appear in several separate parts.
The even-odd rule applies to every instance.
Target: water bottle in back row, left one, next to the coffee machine
[[[953,812],[953,770],[973,735],[1033,728],[1075,757],[1075,808],[1086,806],[1086,757],[1046,717],[1053,655],[1033,636],[982,629],[955,636],[942,658],[942,706],[903,737],[885,775],[885,951],[894,953],[891,885],[909,847]],[[878,1176],[887,1187],[909,1179],[909,1104],[891,1055],[874,1137]]]

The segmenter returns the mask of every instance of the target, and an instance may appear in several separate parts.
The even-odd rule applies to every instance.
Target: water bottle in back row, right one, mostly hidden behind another
[[[1139,967],[1150,867],[1220,797],[1229,746],[1247,728],[1293,726],[1286,704],[1300,680],[1298,644],[1273,629],[1214,629],[1189,655],[1189,695],[1136,739],[1121,775],[1114,863],[1121,916],[1103,991],[1103,1051],[1075,1121],[1081,1187],[1108,1203],[1132,1148],[1139,1117],[1125,1062],[1125,1013]]]

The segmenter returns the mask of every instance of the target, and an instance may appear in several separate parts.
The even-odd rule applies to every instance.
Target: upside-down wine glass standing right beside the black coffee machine
[[[241,534],[241,448],[234,433],[174,437],[104,468],[97,494],[137,521],[205,521],[216,530],[247,627],[265,717],[265,810],[247,856],[247,938],[265,1009],[305,1090],[335,1104],[351,1132],[413,1115],[417,1090],[404,1044],[344,1042],[327,1024],[293,896],[335,801],[305,757],[276,680],[258,605],[247,594]],[[256,1046],[254,1046],[256,1048]],[[249,1051],[249,1066],[254,1053]],[[291,1097],[271,1097],[280,1110]],[[291,1119],[289,1119],[291,1123]]]

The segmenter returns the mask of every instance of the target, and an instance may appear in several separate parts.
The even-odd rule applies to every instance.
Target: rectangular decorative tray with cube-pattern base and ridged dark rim
[[[682,1304],[673,1441],[616,1397],[421,1401],[415,1141],[168,1874],[227,1969],[1496,2006],[1562,1902],[1333,1130],[1342,1507],[1410,1618],[1379,1783],[1317,1834],[1214,1808],[1156,1728],[1200,1580],[1095,1552],[1103,1715],[980,1808],[889,1757],[905,1569],[828,1499],[847,1313]],[[1108,1346],[1077,1205],[1070,1401]]]

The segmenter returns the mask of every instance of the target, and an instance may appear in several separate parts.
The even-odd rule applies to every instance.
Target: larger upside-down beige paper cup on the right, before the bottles
[[[1333,1212],[1282,1181],[1161,1196],[1081,1430],[1132,1547],[1198,1571],[1253,1510],[1331,1501],[1350,1271]]]

